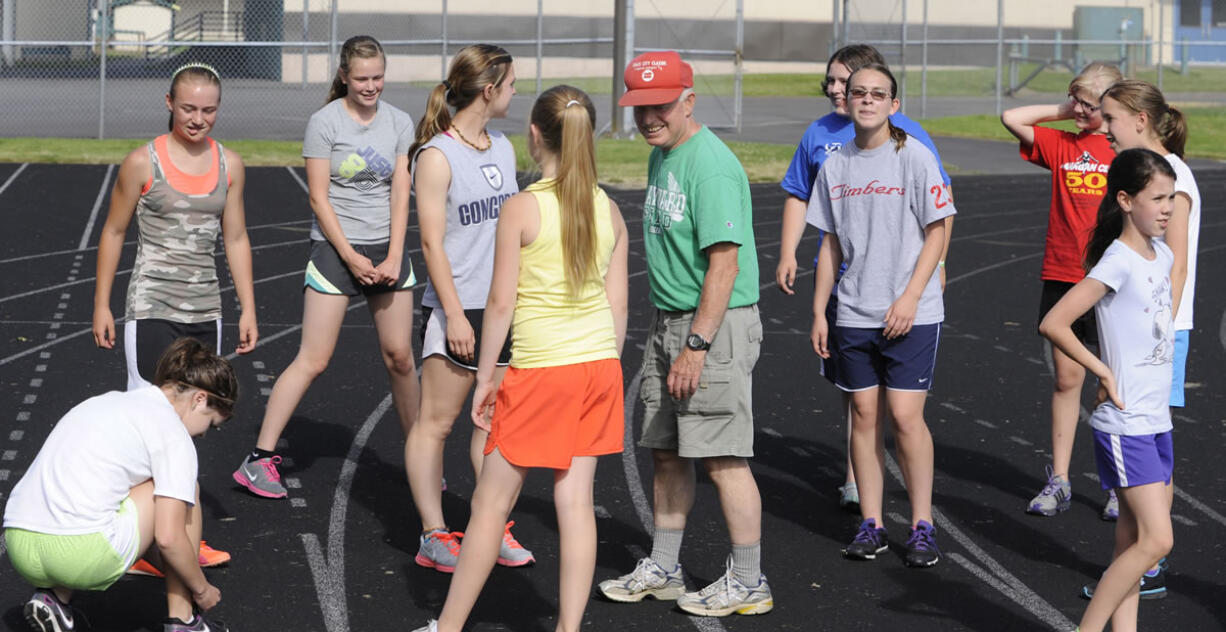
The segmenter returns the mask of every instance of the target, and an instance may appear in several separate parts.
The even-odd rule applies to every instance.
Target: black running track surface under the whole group
[[[16,173],[22,169],[21,173]],[[16,173],[16,177],[13,174]],[[89,331],[94,247],[105,216],[107,167],[0,164],[0,499],[33,459],[51,425],[82,399],[123,388],[119,351],[94,349]],[[1188,407],[1176,417],[1176,549],[1171,595],[1141,606],[1143,630],[1222,630],[1226,621],[1226,477],[1215,465],[1226,434],[1224,312],[1226,263],[1221,173],[1200,175],[1206,200],[1200,282],[1188,361]],[[356,304],[332,366],[310,389],[281,452],[289,501],[255,498],[230,480],[254,441],[268,389],[298,347],[302,270],[310,211],[302,171],[251,168],[246,209],[255,249],[259,349],[234,360],[243,399],[235,418],[200,441],[206,539],[234,555],[208,571],[223,593],[213,614],[233,630],[365,632],[413,630],[436,615],[447,576],[413,563],[418,519],[402,465],[402,437],[389,410],[386,377],[370,317]],[[836,506],[843,428],[839,396],[817,374],[809,350],[812,270],[797,296],[774,288],[782,196],[755,185],[756,239],[766,326],[755,372],[756,458],[763,491],[763,565],[775,611],[760,617],[689,617],[672,604],[612,604],[593,596],[586,630],[1072,630],[1086,601],[1080,587],[1107,562],[1111,525],[1098,520],[1103,493],[1090,479],[1089,432],[1079,430],[1074,503],[1057,518],[1024,514],[1042,484],[1048,450],[1051,373],[1035,334],[1048,187],[1046,175],[955,179],[956,229],[945,296],[948,322],[927,420],[937,443],[935,507],[945,557],[931,569],[902,566],[906,497],[888,477],[890,555],[850,562],[840,549],[855,515]],[[614,191],[639,236],[641,191]],[[97,207],[97,216],[93,210]],[[416,223],[416,222],[413,222]],[[416,232],[411,236],[417,248]],[[803,260],[813,234],[802,244]],[[128,270],[135,248],[125,248]],[[418,279],[424,275],[414,250]],[[221,260],[221,259],[219,259]],[[219,265],[224,268],[224,265]],[[631,242],[629,341],[624,358],[634,398],[651,308],[641,238]],[[116,282],[121,313],[126,276]],[[237,318],[226,293],[226,344]],[[1091,394],[1086,391],[1086,401]],[[628,401],[636,401],[630,399]],[[640,430],[636,409],[628,434]],[[465,457],[470,426],[457,423],[447,448],[444,507],[463,528],[472,492]],[[633,441],[628,438],[628,444]],[[650,549],[651,465],[631,449],[601,460],[596,502],[597,580],[628,572]],[[682,561],[691,585],[723,571],[728,551],[711,485],[700,475]],[[473,631],[553,630],[558,544],[550,477],[535,472],[514,512],[516,534],[536,567],[495,568],[471,619]],[[0,621],[23,630],[28,588],[0,563]],[[161,630],[158,580],[126,578],[76,605],[94,630]]]

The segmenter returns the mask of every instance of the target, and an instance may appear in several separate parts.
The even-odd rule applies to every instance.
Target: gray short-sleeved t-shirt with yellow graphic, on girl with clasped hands
[[[380,243],[391,236],[391,175],[397,156],[413,144],[413,119],[384,101],[374,120],[362,125],[338,98],[311,114],[303,139],[304,158],[327,158],[332,204],[349,243]],[[319,221],[310,238],[324,241]]]

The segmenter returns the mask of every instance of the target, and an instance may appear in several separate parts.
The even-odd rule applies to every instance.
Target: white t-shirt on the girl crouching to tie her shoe
[[[153,479],[153,493],[192,504],[196,448],[157,387],[110,391],[65,415],[17,481],[5,528],[53,535],[102,531],[128,492]]]

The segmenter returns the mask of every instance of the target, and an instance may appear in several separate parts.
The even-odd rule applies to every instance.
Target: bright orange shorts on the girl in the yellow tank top
[[[511,367],[498,389],[485,454],[498,448],[519,468],[565,470],[575,457],[620,453],[623,398],[618,358]]]

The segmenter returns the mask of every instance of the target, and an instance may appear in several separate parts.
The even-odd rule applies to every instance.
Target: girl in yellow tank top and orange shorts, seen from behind
[[[498,221],[473,423],[489,432],[472,517],[443,614],[418,632],[461,630],[498,558],[528,468],[554,470],[562,550],[558,630],[577,631],[592,589],[596,458],[622,452],[626,232],[596,187],[596,108],[555,86],[532,107],[528,150],[542,180]],[[494,364],[514,319],[511,368]],[[497,390],[497,393],[495,393]]]

